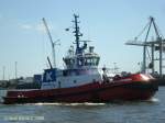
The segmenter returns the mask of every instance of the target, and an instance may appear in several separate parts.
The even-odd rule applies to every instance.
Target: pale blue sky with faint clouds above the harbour
[[[42,74],[47,68],[46,57],[52,57],[50,38],[42,18],[46,19],[56,46],[57,67],[74,42],[73,14],[79,14],[81,40],[92,41],[95,52],[101,57],[99,67],[116,65],[120,71],[140,70],[142,47],[128,46],[148,22],[155,21],[165,34],[164,0],[0,0],[0,79]],[[141,37],[144,40],[143,37]]]

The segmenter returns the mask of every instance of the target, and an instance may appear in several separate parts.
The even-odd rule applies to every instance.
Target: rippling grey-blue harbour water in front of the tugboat
[[[153,99],[113,103],[0,104],[0,123],[164,123],[165,87]]]

